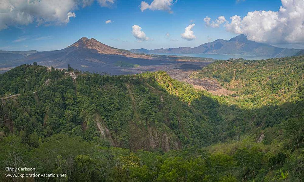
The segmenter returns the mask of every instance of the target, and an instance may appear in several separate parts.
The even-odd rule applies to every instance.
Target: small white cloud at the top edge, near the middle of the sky
[[[142,1],[140,4],[140,10],[143,12],[146,9],[150,9],[152,11],[154,10],[165,10],[168,11],[170,13],[172,13],[171,11],[171,6],[177,2],[173,1],[173,0],[153,0],[153,2],[151,2],[151,4]]]

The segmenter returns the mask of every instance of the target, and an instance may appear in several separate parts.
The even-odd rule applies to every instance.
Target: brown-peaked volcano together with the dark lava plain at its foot
[[[65,49],[37,52],[22,59],[0,63],[0,72],[22,64],[37,62],[39,65],[55,68],[67,68],[70,65],[82,71],[107,72],[117,75],[177,69],[182,64],[189,64],[189,61],[191,62],[186,57],[172,59],[172,57],[159,58],[157,56],[135,54],[127,50],[110,47],[95,39],[81,38]],[[206,62],[203,65],[200,64],[200,61],[192,64],[202,67]]]

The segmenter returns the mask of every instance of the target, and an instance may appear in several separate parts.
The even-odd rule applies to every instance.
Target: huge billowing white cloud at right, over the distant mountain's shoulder
[[[230,17],[226,30],[247,39],[270,44],[304,42],[304,0],[281,0],[278,11],[248,12],[244,18]]]

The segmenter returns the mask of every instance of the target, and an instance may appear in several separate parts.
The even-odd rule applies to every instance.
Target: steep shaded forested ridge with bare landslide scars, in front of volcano
[[[87,140],[100,136],[112,146],[132,150],[168,151],[218,140],[210,136],[212,127],[223,122],[216,111],[220,104],[202,100],[205,106],[215,108],[205,108],[210,110],[207,113],[196,111],[188,105],[203,93],[179,93],[183,98],[176,99],[155,81],[171,82],[163,72],[113,77],[75,73],[74,80],[70,74],[23,65],[0,75],[3,97],[26,94],[18,96],[17,102],[13,98],[2,100],[5,105],[1,117],[6,120],[2,126],[9,126],[11,132],[26,130],[28,134],[36,130],[44,137],[72,127],[82,130]],[[20,112],[17,108],[31,109]],[[27,127],[24,120],[20,123],[20,114],[36,118],[42,126]],[[212,124],[207,124],[210,121]]]

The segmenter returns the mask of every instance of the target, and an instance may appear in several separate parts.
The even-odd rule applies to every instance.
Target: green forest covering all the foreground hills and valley
[[[304,181],[304,56],[216,61],[191,77],[233,94],[163,71],[0,74],[0,181]]]

